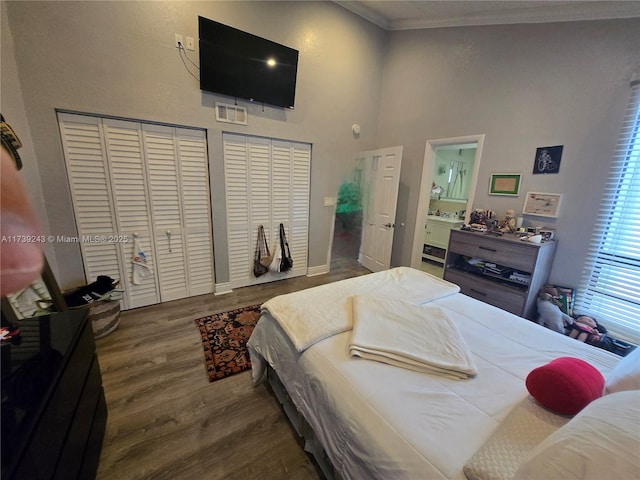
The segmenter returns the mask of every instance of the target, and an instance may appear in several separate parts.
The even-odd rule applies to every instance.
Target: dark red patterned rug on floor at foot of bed
[[[260,305],[252,305],[195,320],[210,382],[251,368],[247,341],[259,318]]]

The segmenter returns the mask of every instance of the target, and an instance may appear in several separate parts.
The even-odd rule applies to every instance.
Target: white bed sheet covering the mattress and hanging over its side
[[[619,360],[463,294],[431,305],[458,327],[477,377],[452,380],[353,358],[350,332],[298,353],[268,314],[251,336],[254,382],[271,364],[346,479],[463,479],[464,464],[528,395],[532,369],[575,356],[606,375]]]

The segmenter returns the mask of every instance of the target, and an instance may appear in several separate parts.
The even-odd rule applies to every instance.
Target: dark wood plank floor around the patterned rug
[[[209,383],[194,319],[365,273],[337,258],[325,275],[123,312],[118,329],[96,340],[109,409],[97,478],[320,479],[250,372]]]

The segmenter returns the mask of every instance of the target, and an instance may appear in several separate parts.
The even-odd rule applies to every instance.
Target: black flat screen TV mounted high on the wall
[[[200,89],[293,108],[298,51],[198,17]]]

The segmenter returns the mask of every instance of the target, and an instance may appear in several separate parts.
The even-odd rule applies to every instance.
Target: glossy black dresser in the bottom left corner
[[[95,478],[107,407],[86,310],[19,325],[2,344],[2,478]]]

